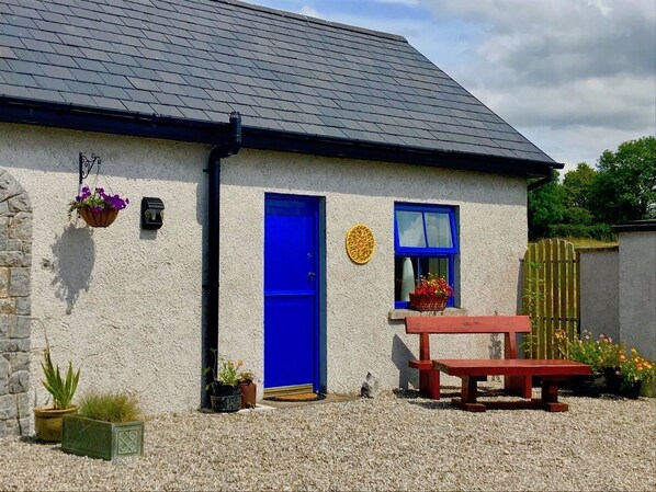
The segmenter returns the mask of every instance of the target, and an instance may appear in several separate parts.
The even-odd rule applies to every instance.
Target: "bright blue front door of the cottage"
[[[318,389],[318,198],[267,195],[264,390]]]

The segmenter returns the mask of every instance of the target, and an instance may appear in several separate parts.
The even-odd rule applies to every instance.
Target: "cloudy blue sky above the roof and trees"
[[[250,0],[399,34],[573,169],[656,133],[654,0]]]

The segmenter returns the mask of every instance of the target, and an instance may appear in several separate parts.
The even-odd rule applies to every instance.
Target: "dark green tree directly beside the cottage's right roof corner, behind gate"
[[[554,181],[529,192],[529,239],[548,236],[548,226],[558,224],[565,216],[565,192],[558,183],[558,172]]]

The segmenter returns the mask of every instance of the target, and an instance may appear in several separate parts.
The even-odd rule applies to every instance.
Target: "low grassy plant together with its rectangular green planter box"
[[[144,421],[139,401],[129,392],[90,392],[79,411],[66,415],[61,449],[113,460],[144,454]]]

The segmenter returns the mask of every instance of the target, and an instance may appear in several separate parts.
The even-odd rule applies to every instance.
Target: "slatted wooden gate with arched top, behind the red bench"
[[[527,356],[558,358],[554,332],[569,340],[579,334],[579,276],[574,244],[545,239],[529,244],[523,267],[523,312],[531,317],[532,333]]]

